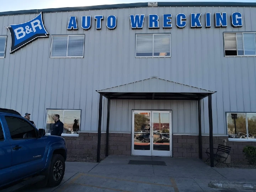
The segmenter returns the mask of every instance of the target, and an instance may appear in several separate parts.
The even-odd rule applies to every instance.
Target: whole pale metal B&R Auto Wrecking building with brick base
[[[1,12],[0,107],[48,133],[60,114],[69,153],[204,157],[210,95],[213,144],[243,158],[256,141],[255,18],[255,3],[235,2]]]

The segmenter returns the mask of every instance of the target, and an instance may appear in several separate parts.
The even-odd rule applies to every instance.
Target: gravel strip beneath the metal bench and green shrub
[[[210,166],[210,160],[207,162],[203,160],[207,165]],[[219,163],[215,166],[217,161],[214,161],[214,167],[219,168],[240,168],[240,169],[256,169],[256,164],[250,165],[247,160],[231,160],[230,164]]]

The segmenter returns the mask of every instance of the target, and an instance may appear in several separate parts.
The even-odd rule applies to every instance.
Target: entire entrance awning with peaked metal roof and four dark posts
[[[101,149],[101,119],[102,119],[102,97],[107,98],[107,129],[106,129],[106,156],[108,156],[108,135],[110,120],[111,99],[140,99],[140,100],[197,100],[198,101],[198,130],[199,130],[199,158],[202,159],[202,132],[201,132],[201,100],[208,97],[209,110],[209,140],[210,140],[210,165],[214,167],[213,159],[213,123],[212,123],[212,94],[210,91],[199,87],[181,84],[174,81],[160,79],[153,76],[124,85],[97,90],[100,94],[98,113],[98,142],[97,162],[100,162]]]

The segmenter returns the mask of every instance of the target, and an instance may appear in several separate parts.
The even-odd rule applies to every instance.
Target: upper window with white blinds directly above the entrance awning
[[[171,57],[171,34],[136,34],[135,57]]]

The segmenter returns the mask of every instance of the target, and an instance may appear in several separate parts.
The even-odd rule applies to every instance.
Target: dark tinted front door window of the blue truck
[[[12,139],[32,139],[36,138],[36,130],[24,121],[17,117],[5,117]]]

